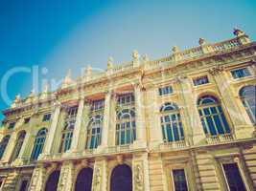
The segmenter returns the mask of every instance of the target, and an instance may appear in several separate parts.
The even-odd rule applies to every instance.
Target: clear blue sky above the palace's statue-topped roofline
[[[231,38],[234,27],[256,40],[255,0],[0,0],[0,12],[0,110],[28,96],[36,66],[39,83],[58,82],[68,69],[105,69],[110,55],[120,63],[136,49],[155,59],[199,37]]]

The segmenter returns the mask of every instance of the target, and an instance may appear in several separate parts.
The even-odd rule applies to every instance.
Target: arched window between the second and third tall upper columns
[[[103,116],[91,117],[87,128],[86,149],[95,149],[102,142]]]

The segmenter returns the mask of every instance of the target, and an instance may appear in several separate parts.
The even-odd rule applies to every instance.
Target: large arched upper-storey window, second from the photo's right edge
[[[216,97],[201,96],[198,99],[198,112],[206,137],[230,134],[221,103]]]

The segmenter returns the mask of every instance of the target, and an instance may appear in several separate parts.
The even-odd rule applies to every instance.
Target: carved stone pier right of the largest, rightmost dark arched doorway
[[[132,159],[132,187],[134,191],[150,190],[148,154],[134,154]]]

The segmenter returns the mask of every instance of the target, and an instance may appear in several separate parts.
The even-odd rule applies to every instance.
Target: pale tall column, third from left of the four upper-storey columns
[[[105,94],[102,144],[98,147],[99,150],[104,149],[108,145],[107,143],[108,143],[108,130],[109,130],[109,121],[110,121],[110,101],[111,101],[111,91]]]

